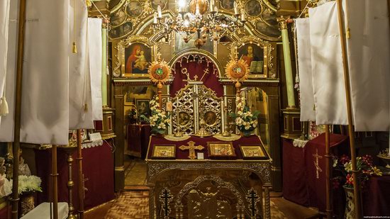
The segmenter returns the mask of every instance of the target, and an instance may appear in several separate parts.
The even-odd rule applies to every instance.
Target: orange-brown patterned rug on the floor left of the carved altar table
[[[123,191],[108,210],[106,219],[149,218],[149,191]]]

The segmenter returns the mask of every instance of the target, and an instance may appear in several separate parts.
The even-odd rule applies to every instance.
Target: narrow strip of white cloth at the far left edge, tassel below
[[[0,2],[0,103],[6,82],[6,64],[9,30],[9,6],[10,0]],[[1,115],[0,115],[1,123]]]

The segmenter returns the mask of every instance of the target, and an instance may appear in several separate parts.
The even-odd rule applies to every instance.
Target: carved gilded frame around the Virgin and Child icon
[[[147,48],[150,49],[150,60],[147,60],[149,62],[152,62],[155,60],[155,57],[157,55],[157,44],[155,42],[152,42],[149,40],[149,38],[145,36],[139,36],[139,35],[132,35],[124,40],[119,41],[119,43],[114,47],[116,49],[116,58],[118,59],[117,62],[115,62],[113,66],[113,76],[114,77],[127,77],[130,79],[149,79],[149,74],[147,73],[147,70],[145,73],[142,74],[127,74],[126,73],[126,48],[130,47],[131,45],[139,43]]]

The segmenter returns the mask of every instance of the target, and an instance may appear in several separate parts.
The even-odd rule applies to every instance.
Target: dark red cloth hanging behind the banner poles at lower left
[[[50,150],[35,150],[37,174],[42,179],[43,193],[38,193],[37,206],[40,203],[49,201],[50,173],[51,173],[51,153]],[[111,145],[104,141],[104,144],[97,147],[84,148],[82,150],[82,169],[84,174],[85,191],[84,210],[94,208],[102,203],[106,203],[115,198],[113,187],[113,154]],[[74,208],[79,208],[78,204],[78,182],[77,182],[77,151],[73,153],[72,177],[73,203]],[[60,148],[57,149],[57,169],[58,169],[58,201],[68,201],[68,164],[67,154]]]

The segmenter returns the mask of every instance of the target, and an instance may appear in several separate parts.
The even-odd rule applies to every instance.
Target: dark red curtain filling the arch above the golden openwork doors
[[[189,59],[186,57],[189,57]],[[219,83],[219,72],[216,65],[204,55],[196,55],[198,58],[194,58],[191,55],[186,55],[186,57],[182,57],[174,64],[174,71],[172,72],[174,80],[170,86],[171,96],[174,97],[177,91],[188,84],[188,82],[184,81],[187,79],[186,74],[182,74],[184,68],[191,80],[197,77],[196,81],[201,80],[206,87],[216,91],[218,97],[223,96],[223,86]],[[208,71],[208,74],[204,74],[205,71]],[[204,78],[202,79],[203,75]]]

